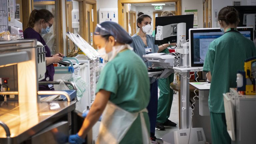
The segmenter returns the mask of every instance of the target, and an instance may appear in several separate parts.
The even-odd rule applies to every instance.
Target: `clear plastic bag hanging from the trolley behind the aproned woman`
[[[79,101],[83,96],[83,93],[87,90],[88,84],[82,79],[82,77],[75,75],[74,73],[65,75],[62,80],[71,81],[77,88],[76,99]]]

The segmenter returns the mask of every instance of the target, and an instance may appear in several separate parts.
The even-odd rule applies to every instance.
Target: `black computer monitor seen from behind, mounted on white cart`
[[[190,28],[193,28],[193,24],[194,24],[194,15],[193,14],[191,14],[191,15],[156,17],[155,34],[157,33],[157,26],[166,26],[166,25],[178,24],[178,23],[186,23],[186,40],[188,40],[188,30]],[[177,28],[174,29],[174,31],[177,34]],[[168,42],[176,43],[177,42],[177,35],[164,38],[163,40],[155,40],[156,45],[165,44],[165,43],[168,43]]]

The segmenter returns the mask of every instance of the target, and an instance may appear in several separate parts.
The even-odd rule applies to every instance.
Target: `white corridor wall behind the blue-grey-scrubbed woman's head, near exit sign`
[[[137,6],[136,7],[136,19],[137,19],[137,14],[139,11],[151,16],[151,18],[152,18],[151,26],[152,27],[151,27],[151,31],[148,34],[152,34],[152,32],[154,31],[153,12],[155,12],[157,10],[155,10],[154,6]],[[163,6],[163,9],[159,10],[159,11],[175,11],[175,6]]]

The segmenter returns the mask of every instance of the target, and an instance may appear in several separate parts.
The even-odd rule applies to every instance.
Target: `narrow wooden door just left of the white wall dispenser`
[[[93,9],[93,5],[92,4],[85,4],[85,18],[86,18],[86,23],[85,23],[85,27],[86,27],[86,41],[93,46],[93,21],[92,21],[92,9]]]

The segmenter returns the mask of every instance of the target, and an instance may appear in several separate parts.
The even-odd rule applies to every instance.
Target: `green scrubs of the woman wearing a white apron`
[[[131,50],[124,50],[103,68],[97,84],[99,90],[111,92],[110,101],[128,112],[139,112],[148,106],[150,83],[147,67]],[[149,134],[148,113],[143,112]],[[143,143],[140,116],[133,122],[120,144]]]

